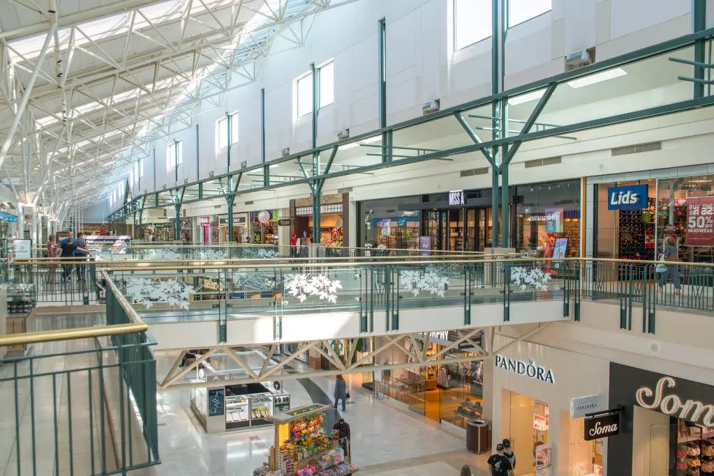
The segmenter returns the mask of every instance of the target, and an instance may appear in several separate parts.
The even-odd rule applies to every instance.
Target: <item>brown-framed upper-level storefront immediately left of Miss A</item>
[[[348,247],[349,194],[323,195],[320,206],[320,243],[331,247]],[[291,234],[313,240],[312,198],[290,201]]]

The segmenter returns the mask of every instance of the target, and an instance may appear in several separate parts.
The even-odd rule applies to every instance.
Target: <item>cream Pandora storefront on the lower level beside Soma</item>
[[[509,342],[496,336],[494,346]],[[608,409],[609,369],[608,361],[535,343],[494,356],[484,371],[484,417],[496,423],[493,442],[511,440],[517,476],[605,474],[607,442],[585,439],[585,414]]]

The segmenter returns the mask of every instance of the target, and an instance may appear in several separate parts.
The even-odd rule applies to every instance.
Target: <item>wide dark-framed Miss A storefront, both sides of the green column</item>
[[[509,189],[511,246],[537,257],[580,255],[580,180]],[[491,189],[370,200],[358,204],[363,247],[483,252],[493,247]],[[501,212],[495,217],[501,223]],[[558,255],[559,254],[559,255]]]

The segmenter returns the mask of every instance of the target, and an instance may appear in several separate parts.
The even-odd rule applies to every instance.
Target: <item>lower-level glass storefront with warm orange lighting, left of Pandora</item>
[[[426,343],[426,357],[441,353],[458,340],[456,332],[437,331],[415,334],[418,346]],[[473,338],[481,342],[481,336]],[[381,338],[376,338],[376,346]],[[406,351],[411,351],[406,341]],[[476,357],[476,348],[460,343],[440,354],[445,360],[456,356]],[[388,350],[379,354],[380,365],[406,363],[409,356],[404,351]],[[466,428],[469,418],[481,418],[483,412],[483,362],[459,362],[421,368],[398,368],[374,373],[374,391],[381,398],[395,400],[430,420]]]

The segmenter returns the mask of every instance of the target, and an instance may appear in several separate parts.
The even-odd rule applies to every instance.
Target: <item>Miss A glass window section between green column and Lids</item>
[[[580,180],[518,186],[516,195],[518,252],[580,256]]]

